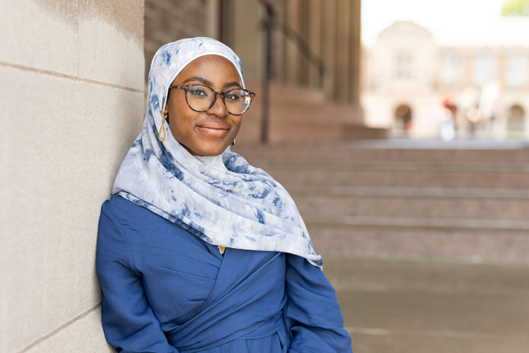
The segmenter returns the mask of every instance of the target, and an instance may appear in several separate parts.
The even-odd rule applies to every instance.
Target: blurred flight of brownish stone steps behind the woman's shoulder
[[[336,256],[529,263],[529,143],[238,145]]]

